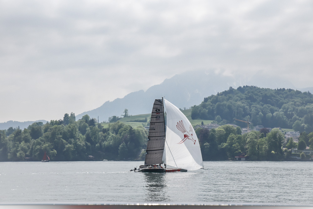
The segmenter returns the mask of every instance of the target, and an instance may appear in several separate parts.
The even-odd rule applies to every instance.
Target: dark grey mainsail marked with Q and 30
[[[156,99],[151,112],[145,165],[162,163],[164,136],[163,102],[162,99]]]

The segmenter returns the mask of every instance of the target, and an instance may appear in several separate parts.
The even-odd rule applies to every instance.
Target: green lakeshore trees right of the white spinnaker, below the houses
[[[270,132],[267,129],[251,131],[241,134],[239,127],[222,125],[218,128],[204,129],[197,128],[196,134],[202,152],[203,160],[227,160],[244,153],[249,160],[288,160],[292,155],[291,150],[297,148],[304,150],[310,146],[313,150],[313,133],[301,134],[299,143],[292,138],[285,143],[284,134],[273,128]],[[301,158],[310,159],[310,155]]]

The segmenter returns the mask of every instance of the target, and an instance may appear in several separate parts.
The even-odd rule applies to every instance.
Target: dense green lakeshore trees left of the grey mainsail
[[[0,130],[0,161],[39,161],[45,151],[54,161],[87,160],[88,156],[138,159],[147,136],[142,126],[132,128],[117,122],[103,128],[88,115],[76,121],[74,113],[66,113],[63,120],[33,123],[24,130]]]

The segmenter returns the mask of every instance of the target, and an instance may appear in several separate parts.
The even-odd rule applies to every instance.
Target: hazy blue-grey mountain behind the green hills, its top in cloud
[[[112,102],[107,101],[101,107],[76,115],[76,119],[88,114],[91,118],[99,116],[99,122],[102,122],[108,120],[110,116],[121,116],[125,108],[131,115],[149,113],[154,100],[161,97],[165,97],[179,108],[190,108],[200,104],[204,97],[225,91],[230,86],[233,88],[249,85],[272,89],[296,89],[289,81],[280,77],[271,77],[268,74],[262,74],[262,72],[249,79],[244,75],[224,76],[210,72],[198,70],[175,75],[159,85],[151,86],[147,91],[135,91],[124,98],[117,98]],[[310,89],[312,88],[306,88],[305,91]],[[301,91],[301,89],[298,90]]]

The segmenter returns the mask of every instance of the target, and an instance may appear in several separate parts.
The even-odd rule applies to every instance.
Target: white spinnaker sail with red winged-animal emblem
[[[175,105],[165,99],[164,103],[166,108],[164,163],[186,170],[203,168],[199,141],[192,125]]]

